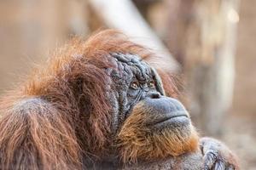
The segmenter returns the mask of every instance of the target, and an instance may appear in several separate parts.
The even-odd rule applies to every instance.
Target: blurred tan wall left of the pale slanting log
[[[79,26],[83,4],[68,0],[8,0],[0,2],[0,93],[11,88],[32,63],[47,58]],[[82,16],[83,17],[83,16]],[[79,33],[83,34],[82,31]]]

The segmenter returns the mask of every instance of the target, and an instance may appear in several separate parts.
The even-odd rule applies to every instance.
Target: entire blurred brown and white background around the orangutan
[[[242,169],[256,169],[255,7],[246,0],[0,0],[0,94],[71,37],[115,28],[183,75],[200,133],[228,144]]]

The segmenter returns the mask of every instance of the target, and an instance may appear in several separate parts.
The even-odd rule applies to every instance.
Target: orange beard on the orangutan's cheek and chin
[[[141,102],[125,120],[118,134],[120,155],[124,162],[157,160],[199,149],[199,137],[192,125],[186,129],[175,127],[152,133],[152,127],[146,125],[152,119],[154,114]]]

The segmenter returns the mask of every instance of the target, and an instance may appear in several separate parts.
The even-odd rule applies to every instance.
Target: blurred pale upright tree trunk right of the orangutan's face
[[[166,1],[169,46],[181,61],[189,111],[201,131],[220,133],[234,85],[238,0]],[[172,51],[171,50],[171,51]]]

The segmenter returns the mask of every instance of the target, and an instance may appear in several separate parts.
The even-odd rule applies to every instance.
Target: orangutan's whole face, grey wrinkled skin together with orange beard
[[[165,96],[160,77],[133,54],[112,54],[114,146],[123,162],[179,156],[198,148],[189,114],[177,100]]]

